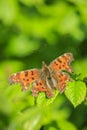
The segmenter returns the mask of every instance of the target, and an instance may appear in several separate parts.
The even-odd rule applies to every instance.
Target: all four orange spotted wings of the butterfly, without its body
[[[66,87],[66,81],[71,80],[68,73],[63,72],[66,70],[68,72],[73,72],[70,63],[73,61],[73,56],[71,53],[65,53],[62,56],[56,58],[50,63],[49,67],[52,70],[52,75],[58,81],[56,88],[60,92],[63,92]],[[20,83],[23,90],[27,90],[29,85],[32,83],[32,94],[36,96],[38,92],[46,92],[47,97],[52,97],[53,89],[47,87],[45,80],[41,78],[42,71],[39,69],[31,69],[26,71],[21,71],[19,73],[12,74],[9,77],[10,84]],[[51,74],[51,71],[50,71]],[[44,75],[47,76],[47,75]]]

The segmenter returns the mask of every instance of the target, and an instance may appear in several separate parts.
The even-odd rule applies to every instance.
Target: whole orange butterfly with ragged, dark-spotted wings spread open
[[[9,77],[10,84],[20,83],[22,90],[28,90],[32,84],[32,95],[37,96],[39,92],[45,92],[48,98],[54,96],[54,89],[62,93],[66,88],[66,82],[71,81],[68,73],[72,73],[70,66],[74,60],[72,53],[65,53],[55,60],[49,66],[42,62],[42,69],[30,69],[12,74]]]

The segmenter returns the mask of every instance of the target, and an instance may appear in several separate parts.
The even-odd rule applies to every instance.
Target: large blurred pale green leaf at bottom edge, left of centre
[[[43,124],[43,111],[40,107],[19,112],[7,130],[39,130]]]

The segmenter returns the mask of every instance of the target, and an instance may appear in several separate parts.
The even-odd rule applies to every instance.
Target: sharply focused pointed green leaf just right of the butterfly
[[[86,97],[86,86],[81,81],[68,82],[65,95],[73,106],[76,107],[81,104]]]

